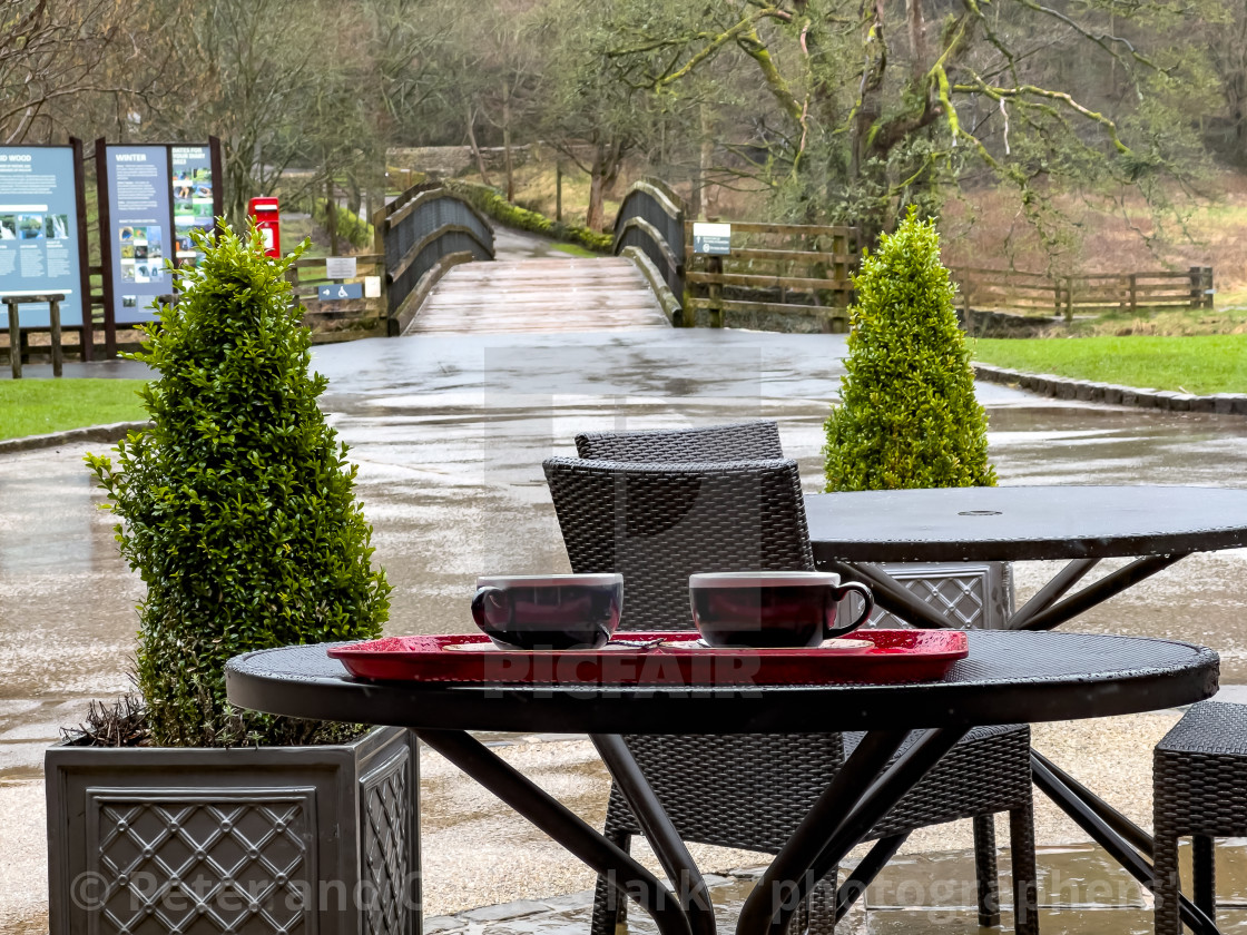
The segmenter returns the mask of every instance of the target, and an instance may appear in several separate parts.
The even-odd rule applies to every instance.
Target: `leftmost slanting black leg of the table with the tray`
[[[605,875],[652,918],[661,935],[693,935],[675,894],[627,853],[590,828],[562,803],[463,731],[416,731],[416,736],[549,834],[594,871]]]

